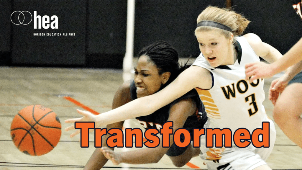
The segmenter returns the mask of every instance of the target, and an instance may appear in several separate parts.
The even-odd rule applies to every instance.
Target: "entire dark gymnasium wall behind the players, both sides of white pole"
[[[196,18],[208,5],[227,7],[251,20],[255,33],[282,54],[302,36],[302,21],[281,0],[136,0],[134,55],[154,41],[172,44],[180,57],[197,57]],[[14,25],[14,11],[58,17],[58,29]],[[0,65],[122,68],[126,46],[127,0],[1,0]],[[51,22],[52,20],[50,20]],[[76,36],[34,36],[75,33]]]

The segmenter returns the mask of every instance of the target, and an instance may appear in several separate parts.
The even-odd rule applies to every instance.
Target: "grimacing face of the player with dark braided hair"
[[[140,56],[137,61],[137,67],[134,70],[134,82],[138,98],[151,95],[159,90],[163,76],[159,75],[158,68],[148,56]]]

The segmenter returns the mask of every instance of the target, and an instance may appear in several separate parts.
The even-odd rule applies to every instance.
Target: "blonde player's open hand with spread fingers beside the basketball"
[[[80,117],[80,118],[75,118],[75,119],[67,119],[65,120],[65,123],[73,123],[72,126],[69,126],[67,128],[65,128],[65,131],[69,131],[69,130],[73,130],[75,129],[75,125],[74,123],[75,122],[95,122],[96,120],[96,115],[88,112],[88,111],[84,111],[84,110],[79,110],[77,109],[77,112],[82,115],[83,117]],[[95,128],[99,127],[100,125],[95,122]],[[90,132],[94,131],[94,129],[89,129]],[[77,129],[76,132],[73,132],[70,137],[74,137],[76,136],[77,134],[79,134],[81,132],[81,129]]]

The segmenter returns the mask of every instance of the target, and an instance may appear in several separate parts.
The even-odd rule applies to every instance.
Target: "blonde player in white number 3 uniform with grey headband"
[[[198,16],[195,29],[201,54],[172,83],[153,95],[133,100],[109,112],[98,116],[82,113],[82,118],[66,122],[89,120],[99,126],[148,115],[195,88],[206,108],[206,128],[229,128],[233,133],[238,128],[246,128],[252,133],[262,128],[262,122],[270,123],[270,145],[265,148],[256,148],[252,144],[243,148],[236,145],[207,148],[206,139],[201,138],[200,157],[207,162],[208,169],[271,169],[265,159],[273,149],[276,134],[274,124],[262,105],[264,80],[247,82],[244,69],[245,64],[259,61],[258,56],[274,62],[282,55],[255,34],[239,37],[248,24],[246,18],[234,11],[207,7]],[[73,126],[66,128],[70,129]],[[72,136],[78,133],[76,131]]]

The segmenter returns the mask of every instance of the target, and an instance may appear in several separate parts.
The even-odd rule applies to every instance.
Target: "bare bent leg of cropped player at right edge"
[[[273,117],[284,134],[302,148],[302,83],[293,83],[279,96]]]

